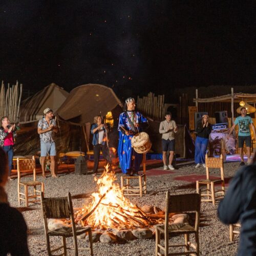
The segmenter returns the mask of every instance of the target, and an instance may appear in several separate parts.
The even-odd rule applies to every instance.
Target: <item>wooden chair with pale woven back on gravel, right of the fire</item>
[[[220,157],[208,157],[205,156],[205,167],[206,167],[206,180],[197,181],[197,193],[199,193],[200,185],[206,185],[206,194],[201,194],[202,202],[212,202],[216,205],[216,199],[225,196],[225,181],[224,181],[224,167],[223,167],[223,156]],[[209,178],[209,168],[220,168],[221,178],[218,180],[211,180]],[[221,183],[221,189],[215,190],[215,184]],[[221,196],[217,196],[216,193],[221,192]],[[202,199],[202,197],[207,197],[207,199]]]

